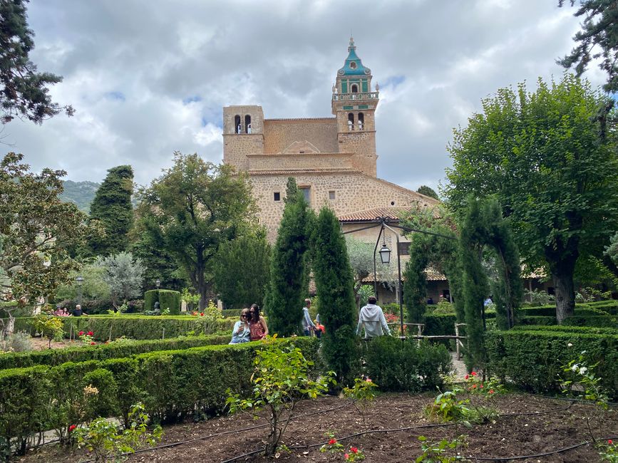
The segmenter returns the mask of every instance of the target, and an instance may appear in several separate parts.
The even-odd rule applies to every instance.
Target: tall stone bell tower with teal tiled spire
[[[363,66],[350,37],[348,57],[337,71],[332,112],[337,120],[339,152],[354,152],[354,167],[376,177],[376,107],[378,85],[371,90],[371,69]]]

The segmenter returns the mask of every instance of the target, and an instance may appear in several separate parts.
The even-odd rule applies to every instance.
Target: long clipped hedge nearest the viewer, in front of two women
[[[294,344],[307,358],[316,359],[315,338],[297,338]],[[55,429],[66,436],[69,426],[97,416],[126,422],[131,405],[138,401],[156,422],[221,412],[228,388],[248,392],[255,351],[262,346],[261,342],[210,345],[0,370],[0,445],[19,445],[43,430]],[[89,385],[98,394],[88,395],[84,387]]]

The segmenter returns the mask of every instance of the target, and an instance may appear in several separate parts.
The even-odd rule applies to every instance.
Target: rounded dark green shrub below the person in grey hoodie
[[[363,350],[367,374],[382,391],[434,389],[450,371],[450,353],[443,345],[380,336],[365,343]]]

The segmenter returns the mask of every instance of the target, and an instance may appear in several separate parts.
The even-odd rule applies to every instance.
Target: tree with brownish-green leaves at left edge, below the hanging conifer
[[[34,305],[68,282],[77,266],[68,250],[96,229],[84,224],[86,214],[74,204],[59,199],[66,172],[43,169],[34,174],[23,159],[9,152],[0,162],[0,297]],[[6,338],[14,318],[12,309],[4,311]]]

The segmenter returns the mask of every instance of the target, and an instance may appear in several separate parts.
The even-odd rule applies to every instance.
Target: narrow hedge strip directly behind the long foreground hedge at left
[[[128,343],[84,345],[64,349],[29,350],[0,355],[0,370],[26,368],[34,365],[56,366],[66,362],[86,362],[108,358],[130,357],[130,355],[154,352],[155,350],[178,350],[202,345],[227,344],[229,335],[190,336],[155,340],[135,340]],[[79,343],[79,341],[78,341]]]

